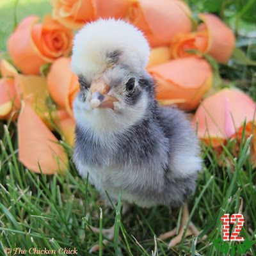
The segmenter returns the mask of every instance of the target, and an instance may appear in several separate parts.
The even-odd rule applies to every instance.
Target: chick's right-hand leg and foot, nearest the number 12
[[[177,236],[173,237],[173,239],[170,241],[169,247],[179,244],[180,241],[182,240],[182,236],[184,234],[186,225],[188,223],[188,219],[189,219],[188,204],[184,204],[183,209],[182,209],[182,219],[181,219],[181,223],[180,223],[180,229],[178,230],[179,232],[177,232],[177,228],[173,228],[173,230],[161,235],[159,237],[159,239],[165,240],[165,239],[175,236],[177,234]],[[192,222],[190,222],[188,225],[188,229],[186,230],[185,237],[188,237],[191,235],[198,236],[199,234],[200,234],[200,232],[198,231],[198,229],[195,227],[195,225]],[[203,237],[203,239],[205,239],[205,237]]]

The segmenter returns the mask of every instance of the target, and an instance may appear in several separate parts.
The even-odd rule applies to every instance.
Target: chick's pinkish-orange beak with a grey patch
[[[114,109],[114,102],[118,101],[115,97],[108,95],[109,86],[104,79],[100,77],[93,81],[91,87],[90,103],[92,108],[111,108]]]

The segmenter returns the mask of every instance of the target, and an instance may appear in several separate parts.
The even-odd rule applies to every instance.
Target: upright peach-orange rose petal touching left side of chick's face
[[[47,76],[47,87],[52,99],[72,115],[72,102],[79,90],[77,76],[71,72],[70,58],[59,58]]]

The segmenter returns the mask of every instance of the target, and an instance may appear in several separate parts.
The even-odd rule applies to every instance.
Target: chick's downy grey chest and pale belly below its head
[[[76,128],[74,161],[79,173],[100,191],[117,193],[136,191],[141,186],[154,188],[163,184],[163,166],[168,161],[167,148],[148,133],[134,129],[105,140]],[[159,157],[161,156],[161,157]],[[158,179],[156,180],[156,177]]]

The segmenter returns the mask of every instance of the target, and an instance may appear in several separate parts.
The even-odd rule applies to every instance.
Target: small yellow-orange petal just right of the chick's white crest
[[[155,47],[150,52],[147,68],[155,66],[155,65],[159,65],[168,60],[170,60],[169,48],[168,47]]]

